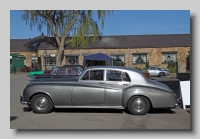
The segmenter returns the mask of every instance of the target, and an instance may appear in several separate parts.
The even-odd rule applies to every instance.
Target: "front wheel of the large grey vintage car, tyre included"
[[[38,94],[33,96],[31,108],[34,113],[49,113],[53,108],[53,102],[49,96]]]

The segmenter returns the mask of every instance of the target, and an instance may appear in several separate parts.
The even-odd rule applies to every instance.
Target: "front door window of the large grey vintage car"
[[[104,70],[88,70],[81,80],[98,80],[103,81]]]

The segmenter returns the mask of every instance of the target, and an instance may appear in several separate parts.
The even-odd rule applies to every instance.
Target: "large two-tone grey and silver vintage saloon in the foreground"
[[[128,108],[134,115],[179,105],[168,86],[122,66],[88,67],[77,79],[35,79],[25,87],[20,102],[35,113],[49,113],[53,107]]]

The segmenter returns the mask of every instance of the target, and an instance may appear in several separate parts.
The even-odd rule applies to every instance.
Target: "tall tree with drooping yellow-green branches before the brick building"
[[[47,27],[47,35],[56,40],[56,66],[61,66],[64,48],[84,48],[91,40],[95,42],[101,35],[97,21],[93,19],[92,10],[25,10],[22,19],[30,25],[30,29],[37,25],[39,31]],[[98,20],[102,29],[104,19],[112,11],[98,10]]]

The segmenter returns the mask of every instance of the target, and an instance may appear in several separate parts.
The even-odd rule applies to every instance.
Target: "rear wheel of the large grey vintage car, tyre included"
[[[128,110],[133,115],[145,115],[150,109],[150,102],[143,96],[134,96],[128,101]]]

